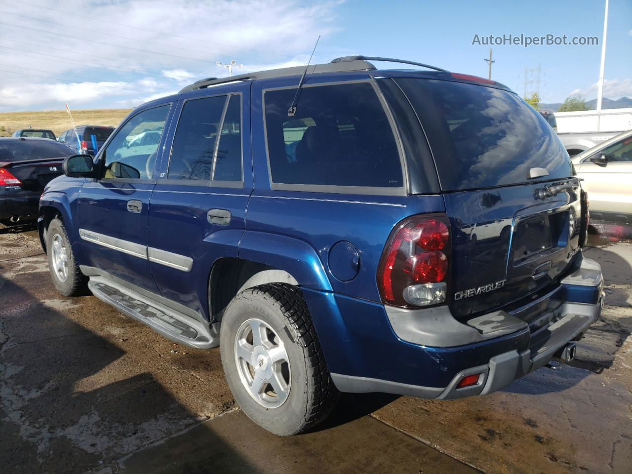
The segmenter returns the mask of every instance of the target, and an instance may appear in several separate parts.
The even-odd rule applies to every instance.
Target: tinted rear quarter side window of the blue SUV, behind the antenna
[[[370,83],[265,92],[265,125],[274,183],[403,186],[399,152]]]

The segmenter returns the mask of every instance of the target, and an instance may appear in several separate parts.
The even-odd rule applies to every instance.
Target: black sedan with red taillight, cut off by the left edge
[[[74,150],[48,138],[0,138],[0,223],[35,219],[39,198]]]

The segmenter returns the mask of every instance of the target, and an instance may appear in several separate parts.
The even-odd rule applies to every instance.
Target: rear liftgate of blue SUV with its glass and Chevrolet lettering
[[[452,226],[454,315],[489,312],[555,284],[578,248],[580,199],[547,121],[502,88],[395,82],[420,118],[439,174]],[[559,184],[567,189],[547,193]]]

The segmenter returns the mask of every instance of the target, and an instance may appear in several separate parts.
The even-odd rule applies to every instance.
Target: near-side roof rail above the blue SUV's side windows
[[[333,73],[339,71],[367,71],[367,70],[375,70],[375,66],[368,61],[358,60],[354,61],[349,59],[348,61],[331,61],[331,63],[325,64],[310,64],[307,66],[307,74],[313,73]],[[198,80],[180,90],[180,94],[182,92],[187,92],[188,90],[195,89],[203,89],[205,87],[210,87],[216,84],[224,84],[228,82],[238,82],[238,81],[246,81],[246,80],[255,80],[255,79],[269,79],[275,77],[285,77],[285,76],[300,76],[305,72],[305,66],[293,66],[291,68],[281,68],[281,69],[273,69],[268,71],[259,71],[256,73],[246,73],[240,74],[238,76],[228,76],[222,78],[207,78]]]

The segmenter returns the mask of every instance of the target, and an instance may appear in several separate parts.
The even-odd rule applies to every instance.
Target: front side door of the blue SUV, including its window
[[[147,260],[147,216],[155,185],[159,142],[140,146],[143,133],[160,133],[171,104],[131,116],[97,155],[100,179],[87,180],[78,199],[78,226],[89,265],[157,291]]]

